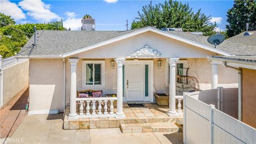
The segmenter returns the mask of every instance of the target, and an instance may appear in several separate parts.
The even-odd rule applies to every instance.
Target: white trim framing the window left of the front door
[[[83,60],[83,66],[82,66],[82,87],[83,88],[101,88],[105,87],[105,60]],[[86,63],[93,63],[93,64],[101,64],[101,85],[86,85],[86,70],[85,65]],[[94,78],[94,73],[93,73]]]

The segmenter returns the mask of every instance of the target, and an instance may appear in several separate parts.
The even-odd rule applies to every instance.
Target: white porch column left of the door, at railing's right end
[[[123,63],[124,58],[116,58],[117,63],[117,81],[116,81],[116,95],[117,95],[117,117],[124,117],[123,111]]]

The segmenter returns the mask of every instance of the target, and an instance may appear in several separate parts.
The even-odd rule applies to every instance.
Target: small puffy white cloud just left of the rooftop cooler
[[[78,30],[81,28],[82,23],[81,20],[82,18],[75,18],[76,13],[74,12],[66,12],[67,19],[63,21],[63,27],[65,28],[71,28],[71,30]]]

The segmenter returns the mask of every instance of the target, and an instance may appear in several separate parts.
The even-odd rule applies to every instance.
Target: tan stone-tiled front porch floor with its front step
[[[178,104],[178,100],[177,100]],[[123,111],[125,117],[115,118],[115,117],[97,117],[97,118],[79,118],[79,119],[69,119],[69,107],[66,108],[65,117],[63,122],[64,130],[74,130],[74,129],[99,129],[99,128],[113,128],[120,127],[123,133],[132,133],[132,126],[125,127],[122,124],[137,124],[137,132],[140,130],[140,125],[146,126],[141,127],[140,132],[173,132],[180,131],[180,125],[183,125],[183,116],[170,117],[166,114],[169,110],[168,106],[159,106],[153,103],[143,104],[145,107],[129,107],[127,103],[123,104]],[[113,109],[116,113],[117,109]],[[173,125],[175,124],[175,125]],[[154,126],[152,126],[154,125]],[[166,126],[167,125],[167,126]],[[169,126],[168,126],[169,125]],[[172,127],[170,127],[170,125]],[[123,127],[122,127],[123,126]],[[124,128],[125,127],[125,128]],[[130,131],[129,131],[130,129]],[[145,130],[143,130],[145,129]]]

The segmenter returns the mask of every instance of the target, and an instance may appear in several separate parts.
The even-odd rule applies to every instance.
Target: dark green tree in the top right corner
[[[226,25],[228,37],[235,36],[246,30],[256,30],[256,0],[235,0],[233,7],[227,12]]]

